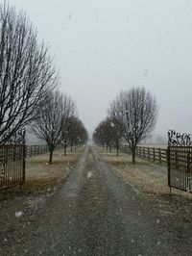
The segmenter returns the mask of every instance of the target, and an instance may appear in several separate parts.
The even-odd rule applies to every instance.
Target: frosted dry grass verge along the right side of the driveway
[[[135,192],[153,202],[153,208],[159,216],[182,219],[191,222],[192,194],[172,190],[170,194],[167,185],[167,166],[136,159],[132,165],[132,157],[125,153],[116,156],[115,152],[108,153],[98,148],[100,156],[124,182],[132,186]]]

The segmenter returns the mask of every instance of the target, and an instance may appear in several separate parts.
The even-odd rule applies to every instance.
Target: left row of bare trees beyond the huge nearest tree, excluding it
[[[46,141],[49,147],[49,164],[52,164],[54,149],[62,144],[64,155],[66,147],[87,141],[87,132],[83,122],[78,118],[74,101],[59,90],[50,92],[42,105],[36,110],[36,118],[31,123],[31,130],[40,140]]]

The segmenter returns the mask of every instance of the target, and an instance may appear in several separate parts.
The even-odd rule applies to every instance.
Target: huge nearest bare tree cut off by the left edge
[[[58,81],[44,44],[23,13],[0,5],[0,139],[6,142],[35,116]]]

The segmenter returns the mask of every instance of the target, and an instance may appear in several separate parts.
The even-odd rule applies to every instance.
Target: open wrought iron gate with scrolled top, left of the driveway
[[[25,182],[25,132],[19,131],[7,143],[0,143],[0,190]]]

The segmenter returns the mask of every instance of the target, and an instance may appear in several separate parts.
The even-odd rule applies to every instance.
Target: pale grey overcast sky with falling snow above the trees
[[[192,0],[10,0],[60,69],[60,90],[92,132],[120,90],[144,86],[156,133],[192,132]]]

